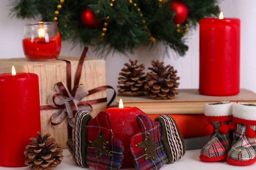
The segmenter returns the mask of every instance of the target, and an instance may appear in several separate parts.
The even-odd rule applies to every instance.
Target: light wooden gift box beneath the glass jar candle
[[[79,63],[79,57],[59,57],[59,60],[46,61],[46,62],[30,62],[25,58],[17,59],[1,59],[0,60],[0,73],[10,73],[11,66],[14,65],[16,72],[35,73],[39,77],[39,95],[40,106],[52,105],[52,96],[56,94],[56,83],[63,82],[67,84],[67,64],[65,61],[71,62],[71,78],[72,88],[74,86],[74,76]],[[106,66],[105,61],[101,59],[85,58],[81,71],[81,78],[79,84],[83,84],[89,91],[99,86],[106,85]],[[100,99],[107,96],[106,90],[83,97],[81,101],[90,99]],[[95,117],[100,111],[107,108],[107,103],[97,103],[92,105],[92,117]],[[41,110],[41,130],[42,133],[50,133],[62,148],[66,148],[66,141],[68,139],[68,123],[65,120],[62,124],[52,126],[50,119],[57,111],[54,110]],[[35,134],[36,135],[36,134]]]

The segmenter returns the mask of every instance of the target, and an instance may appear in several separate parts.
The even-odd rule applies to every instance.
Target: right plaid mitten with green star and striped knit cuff
[[[137,170],[158,170],[164,164],[173,163],[182,157],[184,139],[173,119],[164,116],[153,121],[139,115],[137,123],[141,130],[130,138],[130,155]],[[162,131],[162,128],[165,130]],[[167,134],[163,136],[162,132]]]

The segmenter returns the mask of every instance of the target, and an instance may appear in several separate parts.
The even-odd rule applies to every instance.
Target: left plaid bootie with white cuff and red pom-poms
[[[204,115],[209,123],[207,132],[213,134],[200,152],[202,161],[221,161],[227,158],[235,129],[232,120],[233,102],[209,103],[204,105]]]

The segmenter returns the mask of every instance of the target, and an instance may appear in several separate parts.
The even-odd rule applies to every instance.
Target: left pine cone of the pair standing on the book
[[[129,60],[131,64],[125,63],[124,67],[121,69],[119,75],[123,77],[118,77],[118,84],[124,84],[124,86],[117,86],[119,88],[118,92],[127,96],[139,96],[143,95],[145,76],[142,71],[145,69],[144,64],[136,65],[138,60]]]

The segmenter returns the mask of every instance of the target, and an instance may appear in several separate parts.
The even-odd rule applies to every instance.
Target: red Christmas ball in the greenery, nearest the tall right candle
[[[175,17],[173,18],[173,22],[175,24],[181,24],[188,17],[189,10],[184,2],[181,2],[179,0],[173,0],[169,9],[176,12]]]

